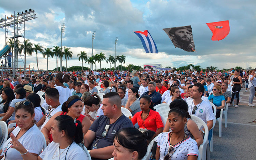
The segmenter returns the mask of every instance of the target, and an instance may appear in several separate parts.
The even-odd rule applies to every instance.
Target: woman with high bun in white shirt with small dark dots
[[[156,137],[156,159],[184,159],[197,160],[198,147],[195,140],[186,135],[184,131],[188,112],[175,107],[169,111],[168,120],[171,132],[160,133]],[[168,125],[168,124],[166,124]]]

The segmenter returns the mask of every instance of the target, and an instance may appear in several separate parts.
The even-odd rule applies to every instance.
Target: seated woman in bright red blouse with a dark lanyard
[[[132,117],[132,124],[135,125],[138,122],[140,128],[146,128],[152,130],[156,137],[159,133],[163,131],[163,122],[161,120],[160,114],[153,109],[153,104],[149,96],[143,96],[140,99],[140,108],[142,111],[137,112]]]

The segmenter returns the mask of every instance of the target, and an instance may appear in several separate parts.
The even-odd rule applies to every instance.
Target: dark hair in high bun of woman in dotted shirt
[[[171,112],[175,112],[175,113],[178,113],[179,116],[182,116],[182,118],[184,118],[184,117],[191,118],[191,116],[188,113],[188,105],[187,105],[186,101],[184,101],[182,99],[176,99],[170,103],[169,107],[171,110],[168,113],[168,115]]]

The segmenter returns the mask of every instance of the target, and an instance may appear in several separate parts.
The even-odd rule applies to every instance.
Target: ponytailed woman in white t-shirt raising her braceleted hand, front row
[[[51,134],[53,142],[51,142],[43,152],[38,156],[31,154],[26,146],[23,146],[14,135],[11,135],[12,144],[23,159],[29,160],[87,160],[88,157],[78,144],[83,140],[82,125],[80,121],[74,121],[68,115],[57,116],[53,123]]]

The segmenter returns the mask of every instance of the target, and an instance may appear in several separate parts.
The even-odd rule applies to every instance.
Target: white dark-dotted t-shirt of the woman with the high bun
[[[163,159],[166,154],[168,154],[168,148],[170,146],[169,141],[170,132],[160,133],[156,137],[157,147],[159,147],[160,157],[159,159]],[[171,159],[175,160],[187,160],[187,156],[193,155],[197,156],[199,154],[197,142],[192,138],[188,137],[183,140],[181,143],[177,143],[174,146],[174,153],[171,156]]]

